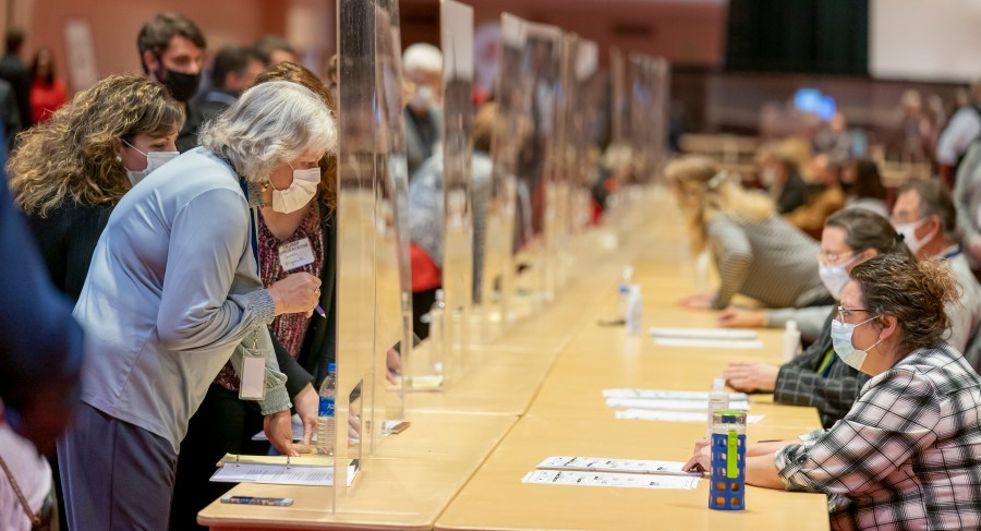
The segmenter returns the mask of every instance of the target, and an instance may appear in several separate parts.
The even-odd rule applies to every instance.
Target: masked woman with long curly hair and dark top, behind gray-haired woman
[[[183,107],[159,83],[110,75],[26,131],[7,166],[55,286],[78,299],[112,208],[177,153]]]

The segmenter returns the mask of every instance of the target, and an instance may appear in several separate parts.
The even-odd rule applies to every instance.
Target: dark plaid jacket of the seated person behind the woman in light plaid
[[[832,351],[831,319],[837,312],[837,306],[832,310],[821,335],[807,350],[780,367],[773,389],[773,399],[778,403],[818,408],[824,427],[848,413],[859,389],[869,381],[868,375],[851,369]],[[828,351],[831,366],[824,376],[818,371]]]

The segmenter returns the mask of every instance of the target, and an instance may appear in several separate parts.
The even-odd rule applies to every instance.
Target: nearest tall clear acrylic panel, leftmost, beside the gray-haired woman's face
[[[334,511],[343,510],[347,466],[364,462],[371,445],[375,349],[375,44],[373,0],[338,2],[338,282],[337,282],[337,444]],[[356,21],[356,23],[355,23]],[[364,21],[368,21],[367,28]],[[355,393],[355,389],[359,391]],[[361,409],[360,444],[348,441],[347,426]],[[356,413],[355,413],[356,414]]]

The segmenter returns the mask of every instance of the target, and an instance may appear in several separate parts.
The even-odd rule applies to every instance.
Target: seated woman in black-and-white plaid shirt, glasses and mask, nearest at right
[[[747,481],[827,494],[835,529],[981,528],[981,377],[941,339],[957,297],[948,268],[891,254],[851,278],[835,351],[872,379],[831,429],[750,445]]]

